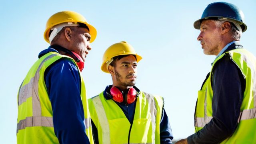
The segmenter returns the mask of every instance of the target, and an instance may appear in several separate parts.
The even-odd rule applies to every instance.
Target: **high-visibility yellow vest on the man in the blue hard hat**
[[[253,144],[256,143],[256,58],[244,48],[238,48],[227,51],[216,58],[212,64],[212,68],[225,55],[230,56],[232,61],[241,70],[246,80],[246,88],[236,131],[232,136],[226,138],[222,144]],[[202,89],[198,91],[195,112],[196,132],[201,130],[212,119],[213,91],[211,77],[212,70]]]

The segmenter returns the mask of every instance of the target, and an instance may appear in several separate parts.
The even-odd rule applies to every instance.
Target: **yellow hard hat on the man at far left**
[[[72,11],[62,11],[62,12],[57,12],[56,14],[52,15],[47,23],[46,23],[46,29],[44,31],[44,40],[46,40],[46,42],[50,43],[49,41],[49,32],[51,30],[52,27],[58,25],[58,24],[62,24],[65,22],[74,22],[76,23],[83,23],[86,24],[86,26],[88,26],[89,31],[90,31],[90,35],[91,35],[91,40],[90,43],[92,43],[97,35],[97,31],[96,28],[94,28],[92,25],[87,23],[87,20],[84,18],[84,16],[82,16],[81,14],[77,13],[77,12],[72,12]]]

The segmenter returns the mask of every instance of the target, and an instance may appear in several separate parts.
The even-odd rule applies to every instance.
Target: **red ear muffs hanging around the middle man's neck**
[[[110,93],[113,96],[113,100],[116,102],[123,102],[123,94],[120,92],[120,90],[117,87],[112,87],[110,89]],[[137,97],[137,91],[134,88],[130,88],[127,93],[127,103],[131,104],[136,100]]]

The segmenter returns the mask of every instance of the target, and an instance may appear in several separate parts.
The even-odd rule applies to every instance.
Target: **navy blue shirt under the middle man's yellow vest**
[[[112,87],[112,85],[110,86]],[[106,87],[104,90],[104,97],[109,100],[110,98],[107,96],[106,92],[108,90],[109,86]],[[133,118],[134,118],[134,111],[136,106],[136,101],[131,104],[124,104],[124,102],[116,102],[116,104],[122,109],[124,112],[126,118],[129,120],[129,122],[132,124]],[[98,130],[92,121],[92,132],[94,136],[94,143],[98,144]],[[170,126],[170,122],[168,119],[168,116],[163,108],[162,110],[162,117],[160,121],[160,142],[161,144],[172,144],[173,135],[172,135],[172,129]]]

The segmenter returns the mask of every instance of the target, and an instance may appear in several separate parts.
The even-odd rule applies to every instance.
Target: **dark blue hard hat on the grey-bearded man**
[[[201,22],[207,19],[225,20],[228,22],[236,22],[242,28],[242,32],[247,29],[244,23],[244,13],[234,4],[228,2],[214,2],[209,4],[199,20],[194,22],[194,28],[200,29]]]

